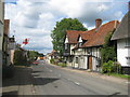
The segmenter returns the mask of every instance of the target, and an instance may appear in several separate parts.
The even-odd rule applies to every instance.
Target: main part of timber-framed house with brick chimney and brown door
[[[95,28],[88,31],[77,31],[78,37],[75,38],[77,43],[69,51],[73,55],[72,67],[78,69],[90,69],[92,71],[101,70],[101,47],[104,39],[117,28],[119,22],[112,20],[102,25],[102,19],[95,19]],[[73,33],[73,32],[72,32]],[[75,34],[75,31],[74,33]],[[73,37],[72,37],[73,38]],[[74,40],[74,39],[72,39]],[[66,44],[66,42],[65,42]],[[69,43],[72,45],[72,43]]]

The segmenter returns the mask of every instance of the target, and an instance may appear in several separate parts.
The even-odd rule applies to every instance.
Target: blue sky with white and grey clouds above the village
[[[103,24],[121,20],[128,12],[129,0],[5,0],[5,19],[10,19],[10,37],[15,36],[23,47],[39,53],[50,53],[53,48],[51,31],[63,18],[78,18],[88,29],[92,29],[96,18]]]

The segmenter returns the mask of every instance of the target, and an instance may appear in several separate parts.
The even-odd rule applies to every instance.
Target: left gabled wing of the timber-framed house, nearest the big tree
[[[74,59],[74,54],[73,54],[73,48],[77,45],[78,43],[78,37],[79,33],[82,33],[83,31],[77,31],[77,30],[67,30],[65,40],[64,40],[64,57],[65,61],[69,67],[73,67],[73,59]]]

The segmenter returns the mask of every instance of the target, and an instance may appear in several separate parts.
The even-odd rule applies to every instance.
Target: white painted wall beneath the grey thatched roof
[[[119,61],[119,64],[122,66],[122,67],[130,67],[130,65],[127,64],[127,58],[128,56],[128,53],[130,51],[130,48],[126,47],[126,42],[127,42],[127,39],[121,39],[121,40],[117,40],[117,60]]]

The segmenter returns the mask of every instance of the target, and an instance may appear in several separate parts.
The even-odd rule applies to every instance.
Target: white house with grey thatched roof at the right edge
[[[130,11],[123,16],[112,40],[117,43],[117,60],[123,73],[130,73]]]

